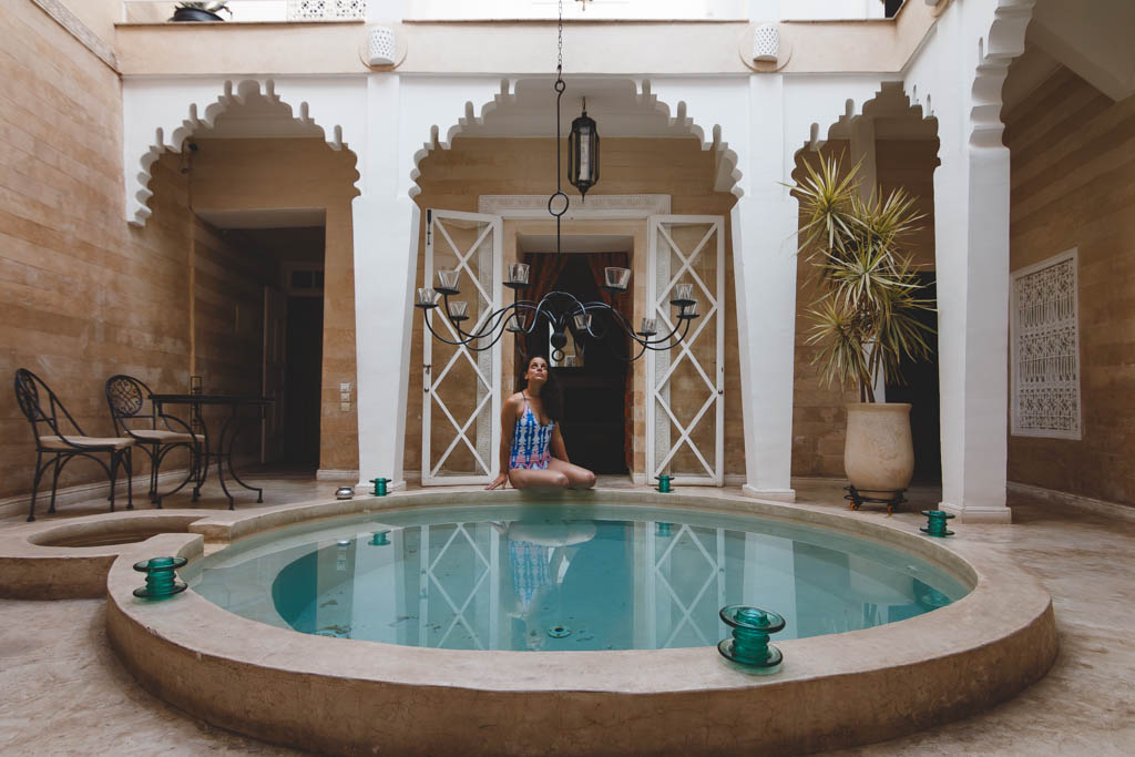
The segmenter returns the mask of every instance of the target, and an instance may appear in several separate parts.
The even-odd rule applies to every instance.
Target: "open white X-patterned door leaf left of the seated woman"
[[[468,303],[469,320],[460,326],[476,334],[501,306],[501,217],[428,210],[426,218],[422,286],[434,286],[438,270],[459,271],[461,294],[449,302]],[[443,308],[426,316],[440,336],[460,342]],[[477,352],[428,329],[423,337],[422,485],[488,482],[501,440],[501,346]]]

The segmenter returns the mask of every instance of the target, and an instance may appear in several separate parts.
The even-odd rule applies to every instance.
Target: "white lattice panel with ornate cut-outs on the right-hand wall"
[[[1012,434],[1081,438],[1076,250],[1012,275]]]

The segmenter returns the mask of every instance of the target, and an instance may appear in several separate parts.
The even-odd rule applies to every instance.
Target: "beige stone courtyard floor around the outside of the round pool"
[[[335,483],[274,472],[268,505],[328,496]],[[622,481],[600,481],[623,486]],[[215,485],[213,485],[215,486]],[[844,507],[839,485],[796,482],[798,502]],[[224,507],[219,489],[200,503],[187,495],[167,507]],[[911,513],[938,493],[915,490]],[[239,496],[237,507],[255,506]],[[1051,672],[989,712],[902,739],[838,755],[1133,755],[1135,754],[1135,514],[1061,507],[1014,496],[1015,524],[957,525],[966,538],[1003,550],[1052,594],[1060,654]],[[144,506],[144,505],[140,505]],[[52,518],[104,512],[92,499]],[[885,518],[865,506],[863,518]],[[0,528],[23,523],[0,520]],[[865,697],[871,692],[865,691]],[[289,755],[188,717],[143,691],[110,651],[101,600],[0,600],[0,754]]]

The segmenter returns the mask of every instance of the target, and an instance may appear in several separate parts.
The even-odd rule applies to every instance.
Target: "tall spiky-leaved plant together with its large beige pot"
[[[852,507],[881,502],[890,512],[903,502],[914,474],[910,405],[876,402],[875,386],[901,384],[903,359],[930,356],[925,336],[933,329],[917,314],[934,310],[934,302],[919,296],[923,285],[908,247],[923,218],[915,200],[901,188],[863,199],[858,169],[844,171],[839,159],[822,159],[807,165],[793,187],[805,217],[800,251],[818,289],[808,310],[807,344],[818,347],[813,364],[824,385],[859,392],[859,402],[847,405],[843,447]]]

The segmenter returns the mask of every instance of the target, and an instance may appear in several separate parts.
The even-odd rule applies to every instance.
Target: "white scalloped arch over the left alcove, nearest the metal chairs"
[[[293,101],[299,101],[299,115],[295,113],[295,108],[284,98],[281,98],[276,92],[276,81],[272,78],[266,79],[254,79],[245,78],[238,79],[234,84],[234,79],[224,79],[220,84],[220,94],[217,95],[211,101],[208,100],[212,92],[205,94],[209,90],[212,92],[217,91],[216,84],[211,86],[209,84],[197,85],[193,87],[192,91],[183,92],[165,92],[161,98],[155,99],[153,103],[146,103],[150,106],[146,110],[154,120],[159,121],[159,126],[153,127],[152,138],[141,137],[144,142],[144,149],[141,150],[141,154],[137,158],[137,165],[140,167],[138,173],[134,176],[135,187],[134,191],[127,191],[127,221],[134,226],[145,226],[146,220],[152,215],[149,205],[146,204],[150,197],[153,196],[153,191],[150,190],[150,182],[153,176],[151,174],[151,168],[153,163],[161,157],[163,152],[180,152],[185,141],[188,140],[194,132],[199,128],[212,128],[217,118],[225,113],[233,106],[241,106],[246,103],[252,98],[263,98],[272,103],[278,103],[287,108],[288,113],[292,116],[292,120],[318,129],[325,142],[333,150],[343,150],[345,148],[344,142],[344,125],[342,123],[329,124],[329,126],[321,125],[311,115],[310,102],[318,99],[314,92],[300,92],[300,96],[291,98]],[[299,87],[295,89],[299,92]],[[306,98],[302,95],[309,95]],[[188,104],[185,101],[188,100]],[[124,98],[124,103],[128,102],[128,98]],[[320,103],[321,106],[327,106],[327,102]],[[176,115],[176,109],[183,108],[182,112],[186,116],[178,120]],[[326,110],[331,110],[330,108],[325,108]],[[168,112],[163,112],[168,111]],[[129,116],[129,113],[127,113]],[[169,120],[163,120],[168,118]],[[131,150],[131,129],[126,129],[124,135],[124,142],[127,142],[125,149]],[[137,136],[137,135],[135,135]],[[358,179],[356,179],[358,182]]]

